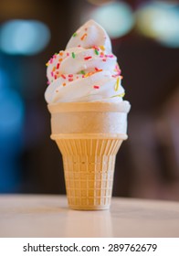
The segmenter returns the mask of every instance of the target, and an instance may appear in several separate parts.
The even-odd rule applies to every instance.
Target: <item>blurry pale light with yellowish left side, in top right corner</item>
[[[142,5],[136,13],[142,35],[170,48],[179,47],[179,4],[153,1]]]

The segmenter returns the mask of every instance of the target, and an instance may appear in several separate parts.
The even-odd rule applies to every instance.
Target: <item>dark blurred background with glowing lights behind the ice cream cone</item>
[[[0,1],[0,193],[65,194],[46,62],[89,18],[111,36],[132,103],[113,196],[179,200],[178,1]]]

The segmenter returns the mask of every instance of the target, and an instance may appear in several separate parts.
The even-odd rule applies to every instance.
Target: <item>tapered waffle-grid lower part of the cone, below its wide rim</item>
[[[115,157],[121,142],[112,138],[57,140],[70,208],[110,208]]]

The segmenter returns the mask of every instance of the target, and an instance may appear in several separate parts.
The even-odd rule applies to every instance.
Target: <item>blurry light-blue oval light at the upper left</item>
[[[0,48],[8,54],[33,55],[47,46],[48,27],[37,20],[9,20],[0,29]]]

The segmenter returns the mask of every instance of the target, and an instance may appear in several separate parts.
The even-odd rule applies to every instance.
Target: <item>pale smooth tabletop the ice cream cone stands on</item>
[[[110,210],[68,208],[67,197],[1,195],[0,237],[179,237],[179,203],[113,197]]]

